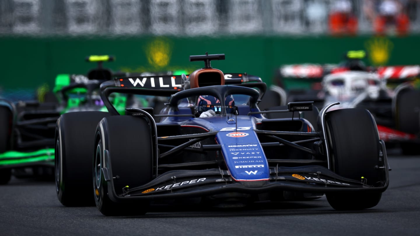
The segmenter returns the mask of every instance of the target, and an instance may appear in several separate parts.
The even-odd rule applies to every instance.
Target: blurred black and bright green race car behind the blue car
[[[113,60],[108,55],[89,56],[87,61],[98,66],[87,75],[59,74],[53,89],[57,102],[0,99],[0,184],[7,184],[12,174],[53,176],[54,130],[58,117],[73,111],[107,111],[99,95],[100,84],[114,77],[128,76],[102,68],[102,62]],[[111,97],[121,114],[127,103],[145,102],[123,94]]]

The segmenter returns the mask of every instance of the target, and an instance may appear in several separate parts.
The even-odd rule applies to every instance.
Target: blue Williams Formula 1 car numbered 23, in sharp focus
[[[304,118],[318,112],[312,110],[312,102],[260,111],[258,90],[263,92],[264,87],[225,79],[222,71],[210,66],[210,60],[224,58],[190,56],[191,61],[204,60],[205,67],[188,77],[107,81],[101,85],[101,96],[108,113],[61,115],[55,136],[60,202],[65,206],[96,202],[104,215],[142,215],[154,202],[189,198],[223,206],[325,194],[336,210],[378,204],[388,187],[389,168],[385,146],[367,110],[328,112],[336,104],[327,105],[318,114],[317,126]],[[171,96],[159,113],[127,108],[120,115],[107,100],[113,92]],[[211,97],[219,103],[208,102]],[[200,114],[202,108],[207,115]],[[268,113],[293,116],[269,119]]]

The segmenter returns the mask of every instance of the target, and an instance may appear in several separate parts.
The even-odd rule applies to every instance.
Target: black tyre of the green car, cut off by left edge
[[[6,152],[12,128],[12,113],[9,108],[0,106],[0,154]],[[7,184],[11,178],[11,169],[0,169],[0,184]]]

